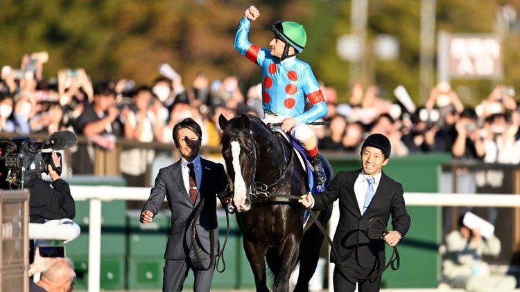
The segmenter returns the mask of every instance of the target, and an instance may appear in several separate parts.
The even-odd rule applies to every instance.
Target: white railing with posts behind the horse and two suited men
[[[101,201],[137,200],[144,201],[150,195],[150,188],[130,188],[112,186],[71,185],[75,200],[89,200],[89,280],[88,291],[100,291],[101,275]],[[404,194],[406,206],[474,206],[474,207],[520,207],[520,196],[514,194],[451,194],[407,192]],[[334,203],[329,236],[333,237],[338,223],[338,202]],[[333,271],[333,267],[329,268]],[[329,283],[332,275],[329,272]],[[332,286],[332,285],[330,285]],[[332,291],[332,290],[331,290]]]

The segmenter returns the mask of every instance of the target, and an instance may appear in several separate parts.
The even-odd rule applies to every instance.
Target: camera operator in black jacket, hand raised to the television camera
[[[51,157],[55,167],[49,164],[47,170],[52,183],[44,181],[41,174],[33,174],[27,178],[26,188],[31,192],[29,201],[31,223],[44,223],[50,219],[73,219],[76,216],[76,206],[69,183],[64,181],[56,171],[61,167],[61,158],[56,152],[53,152]]]

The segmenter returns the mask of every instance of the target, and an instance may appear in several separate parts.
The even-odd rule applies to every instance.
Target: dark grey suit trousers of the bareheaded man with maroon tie
[[[209,255],[204,253],[199,248],[200,261],[202,266],[209,266]],[[189,257],[186,259],[166,259],[164,266],[164,277],[162,280],[162,291],[163,292],[177,292],[182,291],[184,286],[184,280],[188,277],[189,271],[193,271],[194,292],[209,292],[211,288],[211,280],[213,280],[213,274],[215,266],[211,266],[209,270],[202,271],[197,267],[197,259],[193,250]]]

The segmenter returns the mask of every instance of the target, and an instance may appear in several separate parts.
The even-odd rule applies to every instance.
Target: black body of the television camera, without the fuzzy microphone
[[[56,166],[53,162],[52,152],[43,152],[42,149],[48,149],[49,143],[35,142],[28,137],[15,137],[11,139],[17,145],[17,153],[7,154],[4,158],[8,175],[6,181],[19,185],[23,188],[27,177],[35,174],[49,174],[51,165],[53,170],[61,174],[62,167]],[[61,159],[61,154],[56,153]]]

